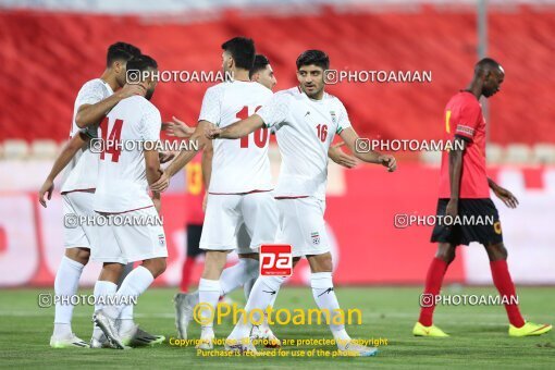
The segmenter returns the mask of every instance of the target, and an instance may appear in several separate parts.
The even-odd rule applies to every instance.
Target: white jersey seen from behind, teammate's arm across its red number
[[[258,83],[222,83],[207,90],[199,121],[225,127],[254,114],[271,97],[272,91]],[[215,139],[209,192],[240,194],[270,190],[269,136],[269,131],[261,128],[240,139]]]

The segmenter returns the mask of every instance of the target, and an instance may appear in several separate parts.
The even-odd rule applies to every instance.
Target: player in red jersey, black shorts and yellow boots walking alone
[[[447,267],[455,259],[458,245],[478,242],[485,247],[490,258],[493,282],[502,296],[509,319],[510,336],[540,335],[552,325],[525,321],[515,299],[515,285],[507,268],[507,249],[503,244],[499,217],[490,198],[490,188],[509,208],[516,208],[517,198],[507,189],[488,177],[485,171],[485,120],[479,102],[481,96],[490,98],[499,91],[505,77],[503,67],[490,58],[482,59],[474,66],[474,76],[466,90],[457,92],[445,108],[445,143],[453,143],[454,150],[443,151],[437,217],[452,220],[493,220],[493,223],[446,225],[436,223],[432,242],[439,243],[435,258],[428,270],[425,287],[421,299],[420,318],[412,334],[417,336],[448,336],[433,325],[432,317],[435,297],[439,295]]]

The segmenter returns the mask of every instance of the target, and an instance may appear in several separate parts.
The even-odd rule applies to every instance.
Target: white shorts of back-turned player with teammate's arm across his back
[[[278,232],[278,209],[270,192],[208,195],[200,249],[233,250],[237,246],[237,232],[245,224],[250,235],[250,250],[257,252],[261,244],[272,244]]]

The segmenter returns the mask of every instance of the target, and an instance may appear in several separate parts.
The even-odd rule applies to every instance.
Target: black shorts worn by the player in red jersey
[[[499,214],[490,198],[459,199],[458,220],[444,219],[449,199],[437,200],[436,222],[432,232],[433,243],[469,245],[478,242],[483,246],[503,242]],[[440,222],[444,220],[444,222]]]

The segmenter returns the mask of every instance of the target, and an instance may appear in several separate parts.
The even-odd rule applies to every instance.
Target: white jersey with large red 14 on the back
[[[148,196],[144,147],[156,148],[161,118],[147,99],[134,96],[108,113],[99,130],[104,147],[99,158],[95,210],[126,212],[152,206]]]

